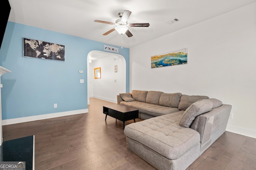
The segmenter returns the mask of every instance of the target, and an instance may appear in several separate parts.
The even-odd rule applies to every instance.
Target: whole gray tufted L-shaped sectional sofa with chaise
[[[225,132],[232,108],[208,96],[143,90],[117,102],[143,119],[126,125],[127,148],[159,170],[185,170]]]

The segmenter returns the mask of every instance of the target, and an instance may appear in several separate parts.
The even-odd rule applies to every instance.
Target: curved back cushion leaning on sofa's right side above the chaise
[[[190,127],[196,116],[210,111],[212,106],[213,104],[210,100],[199,100],[193,103],[184,111],[180,126]]]

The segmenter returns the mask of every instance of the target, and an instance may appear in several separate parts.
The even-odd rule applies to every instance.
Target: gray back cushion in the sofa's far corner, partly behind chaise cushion
[[[180,97],[179,110],[186,110],[192,103],[197,102],[200,99],[208,99],[208,96],[188,96],[182,94]]]

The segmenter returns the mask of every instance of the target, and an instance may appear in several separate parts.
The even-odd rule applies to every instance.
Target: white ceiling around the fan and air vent
[[[85,39],[134,47],[179,29],[214,18],[256,0],[9,0],[9,21],[48,29]],[[130,10],[128,23],[150,23],[149,27],[129,27],[132,37],[114,31],[118,12]],[[166,22],[179,18],[180,21]]]

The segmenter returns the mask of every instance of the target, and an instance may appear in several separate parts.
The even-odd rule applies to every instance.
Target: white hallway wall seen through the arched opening
[[[118,72],[114,66],[118,65]],[[89,64],[92,97],[116,103],[116,95],[126,92],[126,63],[124,57],[108,55]],[[94,79],[94,68],[101,67],[101,78]],[[116,80],[116,82],[114,82]]]

